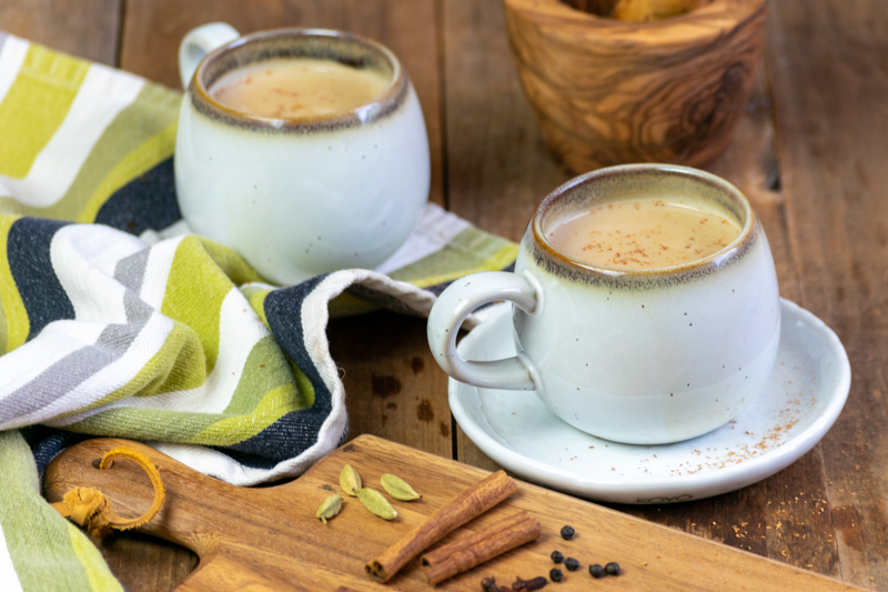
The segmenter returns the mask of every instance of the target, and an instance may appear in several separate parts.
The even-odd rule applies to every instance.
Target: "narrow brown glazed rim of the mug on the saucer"
[[[685,178],[693,179],[696,182],[702,184],[706,184],[709,187],[715,188],[724,192],[725,194],[729,195],[737,204],[739,204],[743,214],[745,215],[746,220],[744,222],[743,228],[740,229],[740,233],[730,243],[728,243],[723,249],[716,251],[715,253],[708,254],[702,259],[696,259],[694,261],[689,261],[687,263],[682,263],[679,265],[669,265],[665,268],[653,268],[653,269],[624,269],[624,268],[608,268],[604,265],[593,265],[591,263],[585,263],[583,261],[578,261],[566,254],[558,251],[549,241],[546,239],[545,232],[543,232],[543,218],[546,211],[562,199],[563,195],[566,195],[572,190],[592,184],[601,179],[605,179],[607,177],[623,177],[623,175],[630,175],[635,172],[663,172],[666,174],[677,174]],[[571,179],[566,183],[562,184],[561,187],[556,188],[552,193],[546,195],[546,198],[539,203],[534,212],[534,217],[531,220],[531,229],[533,231],[533,239],[536,243],[536,247],[544,251],[548,257],[551,257],[555,262],[559,263],[563,268],[572,271],[573,274],[579,275],[598,275],[598,277],[608,277],[608,278],[620,278],[620,279],[655,279],[655,278],[663,278],[666,275],[679,275],[679,274],[687,274],[688,272],[700,271],[707,267],[720,267],[722,264],[726,264],[733,257],[740,257],[749,245],[751,245],[753,241],[755,240],[755,230],[757,224],[757,219],[753,207],[749,204],[749,201],[746,197],[740,192],[739,189],[730,184],[729,182],[725,181],[724,179],[716,177],[715,174],[700,171],[698,169],[693,169],[690,167],[680,167],[678,164],[619,164],[617,167],[607,167],[604,169],[598,169],[592,172],[587,172],[585,174],[581,174],[574,179]]]

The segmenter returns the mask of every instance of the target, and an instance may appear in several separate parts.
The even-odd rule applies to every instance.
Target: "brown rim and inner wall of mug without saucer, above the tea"
[[[210,90],[234,70],[270,60],[312,58],[332,60],[359,70],[373,70],[387,80],[385,89],[367,103],[337,113],[302,118],[265,117],[232,109],[216,101]],[[209,53],[194,76],[192,86],[195,104],[202,111],[212,110],[233,123],[253,126],[258,122],[282,122],[273,127],[293,127],[321,121],[347,124],[385,116],[395,109],[406,90],[401,64],[384,46],[352,33],[325,29],[276,29],[249,34]],[[231,121],[233,120],[233,121]]]

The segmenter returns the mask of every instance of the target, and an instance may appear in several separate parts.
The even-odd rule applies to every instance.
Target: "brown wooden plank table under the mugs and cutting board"
[[[709,169],[761,217],[780,292],[835,329],[851,360],[833,430],[783,472],[698,502],[617,506],[872,590],[888,590],[888,8],[881,0],[771,0],[765,67],[728,152]],[[7,0],[0,29],[179,87],[191,28],[326,27],[377,39],[404,61],[426,117],[432,200],[513,240],[571,175],[522,94],[496,0]],[[884,189],[885,188],[885,189]],[[451,418],[422,320],[336,321],[351,437],[373,433],[494,464]],[[185,550],[138,535],[102,548],[131,592],[167,591]]]

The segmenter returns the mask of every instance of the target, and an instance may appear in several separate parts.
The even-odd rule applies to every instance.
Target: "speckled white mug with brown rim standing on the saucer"
[[[571,259],[547,231],[593,205],[680,197],[734,220],[739,235],[688,263],[644,270]],[[515,358],[463,359],[456,333],[476,308],[513,303]],[[677,442],[725,424],[761,391],[780,339],[770,249],[730,183],[685,167],[599,169],[553,191],[522,239],[514,273],[454,282],[428,319],[428,343],[454,379],[534,390],[558,418],[633,444]]]

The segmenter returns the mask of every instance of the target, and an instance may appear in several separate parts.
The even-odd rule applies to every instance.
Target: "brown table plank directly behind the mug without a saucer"
[[[350,31],[380,41],[404,64],[425,116],[432,157],[430,198],[444,203],[441,91],[434,0],[128,0],[120,64],[180,88],[179,42],[191,29],[223,21],[242,33],[280,27]]]

